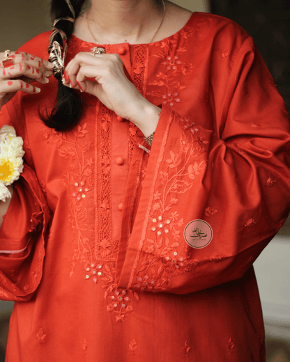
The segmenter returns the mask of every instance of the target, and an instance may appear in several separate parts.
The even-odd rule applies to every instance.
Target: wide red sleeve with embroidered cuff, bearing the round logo
[[[228,52],[229,53],[229,52]],[[163,107],[119,286],[185,294],[241,278],[286,220],[289,116],[247,37],[229,77],[212,64],[215,127]],[[142,151],[139,151],[142,152]]]

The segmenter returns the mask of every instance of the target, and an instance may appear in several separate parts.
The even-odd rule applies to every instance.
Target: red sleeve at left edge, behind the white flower
[[[1,109],[1,126],[15,127],[17,136],[24,139],[24,159],[29,159],[19,112],[20,107],[13,100],[8,102]],[[26,301],[42,277],[49,209],[36,173],[26,162],[13,187],[13,198],[0,228],[0,298]]]

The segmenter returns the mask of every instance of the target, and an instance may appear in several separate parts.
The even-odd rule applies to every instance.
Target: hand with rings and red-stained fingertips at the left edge
[[[40,88],[32,86],[33,81],[42,84],[48,83],[52,76],[52,63],[45,59],[32,56],[24,52],[11,52],[13,65],[5,67],[5,53],[0,53],[0,109],[17,91],[26,93],[39,93]]]

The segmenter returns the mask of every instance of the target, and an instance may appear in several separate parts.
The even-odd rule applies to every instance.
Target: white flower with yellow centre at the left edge
[[[24,150],[22,137],[17,137],[12,126],[0,129],[0,200],[11,197],[6,186],[20,178],[23,171]]]

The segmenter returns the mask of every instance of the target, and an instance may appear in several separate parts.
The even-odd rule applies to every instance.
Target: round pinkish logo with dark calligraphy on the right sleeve
[[[196,249],[207,246],[213,239],[213,229],[204,220],[193,220],[185,226],[184,239],[189,246]]]

